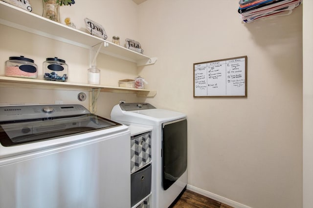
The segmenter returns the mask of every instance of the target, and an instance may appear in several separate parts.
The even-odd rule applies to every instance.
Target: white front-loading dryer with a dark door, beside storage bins
[[[152,130],[152,208],[168,208],[187,185],[187,119],[149,103],[115,105],[111,119]]]

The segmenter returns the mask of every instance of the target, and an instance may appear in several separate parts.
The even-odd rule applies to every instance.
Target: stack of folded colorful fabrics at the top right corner
[[[302,0],[240,0],[238,13],[249,23],[268,17],[290,15]]]

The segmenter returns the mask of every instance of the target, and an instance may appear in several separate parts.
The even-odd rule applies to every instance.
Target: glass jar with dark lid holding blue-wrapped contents
[[[44,79],[49,81],[66,82],[68,78],[68,66],[65,60],[58,57],[46,58],[43,63]]]

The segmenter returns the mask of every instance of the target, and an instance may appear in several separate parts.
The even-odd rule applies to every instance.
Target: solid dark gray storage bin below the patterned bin
[[[132,207],[151,192],[151,164],[131,175]]]

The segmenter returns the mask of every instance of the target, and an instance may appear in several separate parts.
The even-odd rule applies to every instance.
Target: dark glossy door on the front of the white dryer
[[[162,186],[166,190],[187,170],[187,120],[162,125]]]

